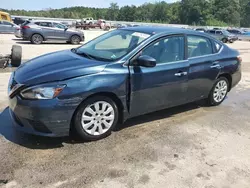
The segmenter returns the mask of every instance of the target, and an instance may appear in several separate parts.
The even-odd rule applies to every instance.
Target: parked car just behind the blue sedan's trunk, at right
[[[233,43],[238,40],[236,35],[233,35],[226,30],[208,30],[207,33],[224,43]]]

